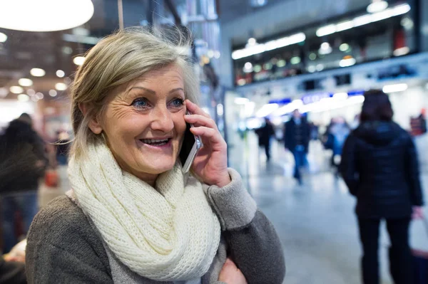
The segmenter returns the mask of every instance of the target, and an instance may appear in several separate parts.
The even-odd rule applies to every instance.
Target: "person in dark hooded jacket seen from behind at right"
[[[362,278],[379,283],[379,223],[387,222],[394,283],[413,283],[409,223],[422,216],[417,152],[410,135],[392,122],[389,98],[381,90],[365,93],[361,124],[345,142],[340,172],[357,197],[362,243]]]

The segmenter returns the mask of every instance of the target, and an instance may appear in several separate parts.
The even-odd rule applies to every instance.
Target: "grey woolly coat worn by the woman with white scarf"
[[[230,256],[248,283],[280,284],[285,261],[275,228],[257,209],[238,172],[230,169],[230,177],[232,182],[223,188],[204,186],[223,233],[202,283],[220,283],[218,275]],[[67,196],[41,210],[27,241],[29,283],[163,283],[143,278],[118,261],[92,221]]]

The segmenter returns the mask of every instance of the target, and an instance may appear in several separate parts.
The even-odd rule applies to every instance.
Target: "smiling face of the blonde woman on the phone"
[[[123,170],[145,180],[173,168],[185,132],[184,92],[177,65],[113,91],[102,130]]]

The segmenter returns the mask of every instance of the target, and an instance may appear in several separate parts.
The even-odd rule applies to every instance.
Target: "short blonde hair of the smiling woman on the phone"
[[[88,124],[93,117],[101,119],[111,90],[151,70],[178,65],[183,72],[185,98],[198,103],[199,84],[188,56],[189,43],[190,38],[178,28],[173,37],[156,35],[147,28],[126,28],[103,38],[91,48],[71,86],[75,139],[70,156],[85,156],[88,143],[104,142],[103,135],[94,134]],[[85,115],[79,108],[81,104],[86,105]]]

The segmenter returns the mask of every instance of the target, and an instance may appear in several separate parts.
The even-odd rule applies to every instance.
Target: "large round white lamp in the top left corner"
[[[0,27],[17,31],[63,31],[92,16],[91,0],[0,1]]]

